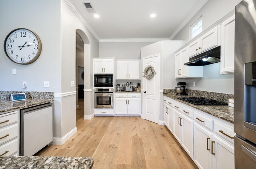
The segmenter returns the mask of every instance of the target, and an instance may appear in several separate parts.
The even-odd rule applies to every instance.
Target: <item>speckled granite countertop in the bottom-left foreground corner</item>
[[[91,169],[90,157],[0,157],[0,169]]]

